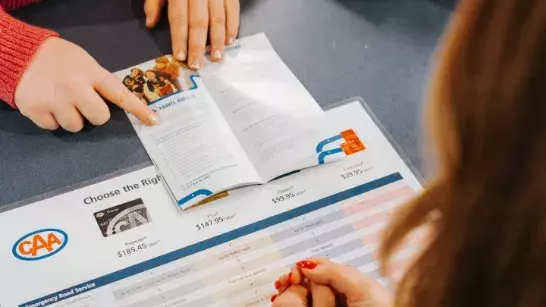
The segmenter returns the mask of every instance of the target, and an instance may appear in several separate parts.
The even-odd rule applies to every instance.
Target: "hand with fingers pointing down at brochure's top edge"
[[[207,35],[211,60],[220,61],[224,46],[235,41],[239,30],[239,0],[146,0],[146,26],[153,28],[168,6],[173,55],[198,70],[205,63]]]

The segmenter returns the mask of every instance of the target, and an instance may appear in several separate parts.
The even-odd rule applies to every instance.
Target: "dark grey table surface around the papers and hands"
[[[143,1],[49,0],[13,14],[52,28],[111,71],[170,53]],[[423,170],[420,113],[430,57],[453,0],[242,0],[240,35],[265,32],[322,105],[361,96]],[[83,132],[41,131],[0,106],[0,206],[149,161],[125,114]]]

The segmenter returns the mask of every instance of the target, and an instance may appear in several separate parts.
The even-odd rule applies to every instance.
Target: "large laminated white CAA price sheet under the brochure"
[[[187,211],[148,167],[0,214],[0,305],[267,306],[316,255],[387,283],[378,232],[421,185],[358,102],[327,116],[366,149]]]

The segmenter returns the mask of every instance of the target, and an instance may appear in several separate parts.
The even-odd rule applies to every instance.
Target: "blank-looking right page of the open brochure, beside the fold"
[[[329,136],[324,111],[265,34],[239,39],[200,74],[264,181],[319,164],[317,145]]]

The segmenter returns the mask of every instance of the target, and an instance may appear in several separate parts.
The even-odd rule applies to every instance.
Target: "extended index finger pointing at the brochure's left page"
[[[143,124],[153,126],[158,119],[155,113],[131,93],[113,74],[101,68],[95,89],[104,98],[136,116]]]

